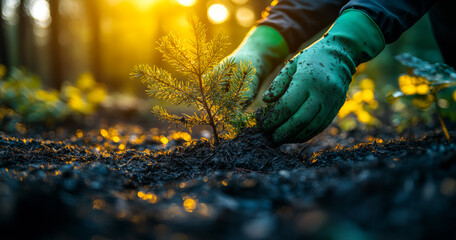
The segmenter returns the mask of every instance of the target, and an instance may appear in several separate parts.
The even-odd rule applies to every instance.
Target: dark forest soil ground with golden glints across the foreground
[[[456,239],[440,134],[275,146],[248,129],[214,148],[135,125],[60,131],[0,137],[2,239]]]

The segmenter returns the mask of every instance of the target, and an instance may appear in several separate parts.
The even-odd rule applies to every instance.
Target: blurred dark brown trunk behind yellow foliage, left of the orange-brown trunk
[[[51,86],[60,89],[62,86],[62,59],[60,55],[60,15],[59,0],[49,1],[51,12],[51,34],[50,34],[50,51],[51,51]]]

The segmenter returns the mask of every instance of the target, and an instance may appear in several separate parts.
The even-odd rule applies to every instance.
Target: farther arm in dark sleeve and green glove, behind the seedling
[[[250,99],[272,70],[305,41],[337,18],[342,3],[337,0],[279,0],[269,6],[239,47],[228,58],[250,61],[256,69]]]

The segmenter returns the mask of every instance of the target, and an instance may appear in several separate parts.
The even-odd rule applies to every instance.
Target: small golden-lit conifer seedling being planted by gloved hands
[[[217,35],[207,41],[205,26],[196,17],[189,22],[193,32],[190,40],[183,42],[170,33],[159,40],[157,47],[163,59],[185,80],[148,65],[135,66],[130,78],[146,84],[149,96],[196,107],[198,112],[193,115],[178,116],[158,105],[152,112],[163,121],[189,130],[196,125],[209,125],[217,144],[220,138],[232,138],[240,128],[254,125],[253,114],[245,111],[244,104],[248,100],[255,69],[250,62],[222,61],[224,50],[229,45],[227,37]]]

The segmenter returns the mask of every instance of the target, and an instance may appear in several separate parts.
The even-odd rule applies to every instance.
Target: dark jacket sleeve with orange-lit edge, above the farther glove
[[[291,52],[333,23],[348,2],[341,0],[276,0],[266,8],[257,24],[279,31]]]

